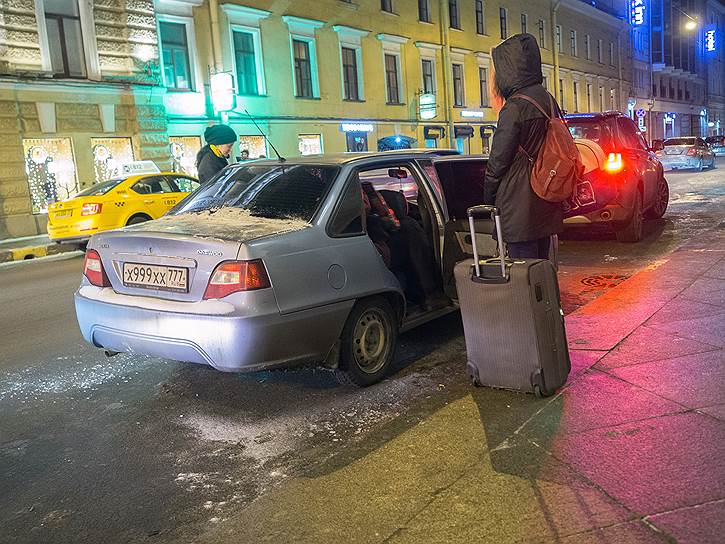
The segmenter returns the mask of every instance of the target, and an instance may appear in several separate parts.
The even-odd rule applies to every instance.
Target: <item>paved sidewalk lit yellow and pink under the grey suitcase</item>
[[[199,542],[723,542],[723,225],[568,316],[567,332],[556,396],[466,387]]]

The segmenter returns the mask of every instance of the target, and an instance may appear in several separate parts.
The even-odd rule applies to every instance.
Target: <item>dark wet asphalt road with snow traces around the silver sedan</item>
[[[670,173],[670,209],[640,244],[562,240],[566,311],[725,216],[725,160]],[[0,267],[0,542],[189,541],[285,478],[396,419],[464,395],[460,318],[401,339],[396,372],[356,390],[325,371],[248,375],[86,345],[72,294],[82,260]]]

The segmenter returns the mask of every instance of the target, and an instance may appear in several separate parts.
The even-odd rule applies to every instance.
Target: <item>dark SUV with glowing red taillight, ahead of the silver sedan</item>
[[[594,211],[568,217],[567,226],[607,224],[621,242],[642,239],[643,220],[665,214],[670,197],[662,165],[626,115],[612,111],[566,116],[574,139],[593,140],[604,151],[601,169],[589,176],[611,191]]]

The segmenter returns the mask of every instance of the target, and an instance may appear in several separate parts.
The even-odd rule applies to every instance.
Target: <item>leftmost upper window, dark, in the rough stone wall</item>
[[[86,77],[78,2],[53,2],[52,8],[45,11],[45,27],[53,74],[59,77]]]

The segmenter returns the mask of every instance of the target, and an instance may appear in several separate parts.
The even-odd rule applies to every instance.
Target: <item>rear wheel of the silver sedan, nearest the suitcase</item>
[[[382,380],[395,358],[397,340],[398,323],[390,303],[382,297],[358,301],[342,330],[338,381],[367,387]]]

